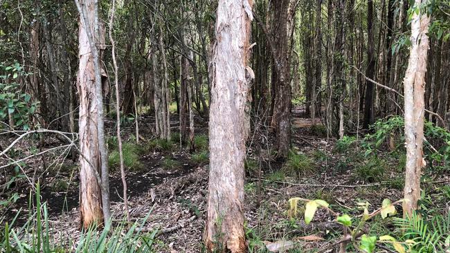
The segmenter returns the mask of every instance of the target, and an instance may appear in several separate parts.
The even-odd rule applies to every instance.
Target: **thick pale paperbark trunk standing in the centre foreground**
[[[244,233],[246,79],[253,1],[219,0],[211,89],[208,214],[204,241],[209,252],[246,252]]]

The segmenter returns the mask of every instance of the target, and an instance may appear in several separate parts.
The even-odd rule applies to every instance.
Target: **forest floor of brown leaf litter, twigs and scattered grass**
[[[323,249],[339,241],[342,228],[333,222],[328,212],[318,209],[313,222],[306,225],[301,216],[304,211],[302,207],[299,207],[298,217],[290,218],[287,215],[289,198],[322,199],[330,203],[334,211],[352,215],[361,214],[357,203],[368,202],[369,211],[372,212],[381,207],[384,198],[393,201],[402,198],[404,172],[399,169],[398,160],[364,160],[354,155],[354,151],[359,149],[352,146],[355,144],[338,147],[334,139],[327,140],[324,127],[320,127],[320,119],[316,120],[318,127],[312,127],[309,119],[302,118],[302,109],[294,110],[293,114],[292,150],[300,155],[300,161],[297,161],[300,164],[296,169],[289,167],[289,160],[283,163],[271,157],[273,151],[267,144],[270,136],[256,133],[249,140],[244,212],[250,252],[266,252],[266,247],[275,246],[273,243],[294,247],[290,252],[314,252],[314,249]],[[207,153],[206,158],[202,156],[208,149],[208,126],[201,119],[196,119],[199,122],[195,129],[200,136],[196,139],[199,151],[191,154],[180,150],[177,141],[169,145],[155,142],[151,131],[154,119],[151,116],[139,120],[143,140],[140,150],[136,151],[139,153],[138,165],[127,170],[128,203],[132,219],[142,221],[150,214],[143,227],[148,231],[159,229],[156,252],[201,252],[208,190]],[[174,115],[171,125],[175,132],[177,124],[177,116]],[[114,122],[107,122],[107,127],[110,136],[114,135]],[[133,127],[124,131],[127,143],[133,142],[132,131]],[[174,139],[177,139],[177,134],[174,134]],[[9,140],[1,140],[0,145],[6,146],[11,140],[14,140],[13,136]],[[30,140],[24,140],[18,147],[26,147],[29,145],[27,141]],[[57,142],[56,139],[46,139],[48,147]],[[53,237],[62,236],[76,241],[80,236],[77,163],[65,159],[64,162],[55,162],[57,166],[49,166],[51,169],[42,170],[42,162],[51,165],[55,157],[33,158],[35,164],[28,165],[30,168],[39,167],[37,175],[40,175],[42,200],[48,207]],[[29,177],[32,177],[30,174],[34,173],[33,170],[26,171]],[[2,177],[7,180],[5,176]],[[433,194],[439,187],[435,182],[449,182],[449,178],[447,171],[447,174],[440,174],[439,178],[429,178],[429,183],[424,182],[424,185]],[[111,166],[110,180],[111,209],[114,218],[120,221],[125,212],[122,182],[120,171],[114,166]],[[22,185],[10,186],[10,189],[19,192],[20,198],[6,210],[0,209],[6,221],[19,210],[27,211],[27,183],[24,180]],[[3,189],[2,198],[6,196]],[[448,198],[439,201],[434,208],[448,208]],[[393,229],[392,221],[381,218],[375,218],[375,221],[366,225],[368,232],[378,235],[387,234]]]

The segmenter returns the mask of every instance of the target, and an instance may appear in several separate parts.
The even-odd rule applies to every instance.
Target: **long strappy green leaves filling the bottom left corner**
[[[147,218],[132,224],[130,228],[125,219],[115,227],[112,227],[111,221],[107,222],[101,232],[98,227],[92,226],[81,233],[78,246],[71,250],[75,245],[72,238],[61,236],[59,241],[55,241],[50,236],[57,231],[48,223],[48,210],[46,203],[41,203],[39,184],[35,198],[37,205],[30,211],[24,225],[15,226],[20,213],[5,224],[4,232],[0,233],[0,248],[5,252],[153,252],[157,230],[150,234],[139,232]]]

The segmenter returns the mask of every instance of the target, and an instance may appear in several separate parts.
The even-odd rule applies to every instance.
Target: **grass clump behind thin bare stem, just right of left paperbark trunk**
[[[118,151],[118,146],[117,144],[111,144],[109,148],[111,149],[111,147],[113,147],[114,149],[109,152],[109,166],[111,168],[118,168],[120,167],[120,154]],[[141,160],[139,160],[141,154],[143,153],[143,149],[138,144],[134,142],[123,142],[122,151],[123,164],[126,168],[134,170],[143,168],[143,164]]]

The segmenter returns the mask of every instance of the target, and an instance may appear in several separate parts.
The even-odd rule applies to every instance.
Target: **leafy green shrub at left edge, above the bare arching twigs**
[[[31,95],[24,93],[19,78],[28,75],[22,66],[0,64],[0,121],[14,124],[12,128],[30,129],[30,122],[39,105],[31,101]]]

